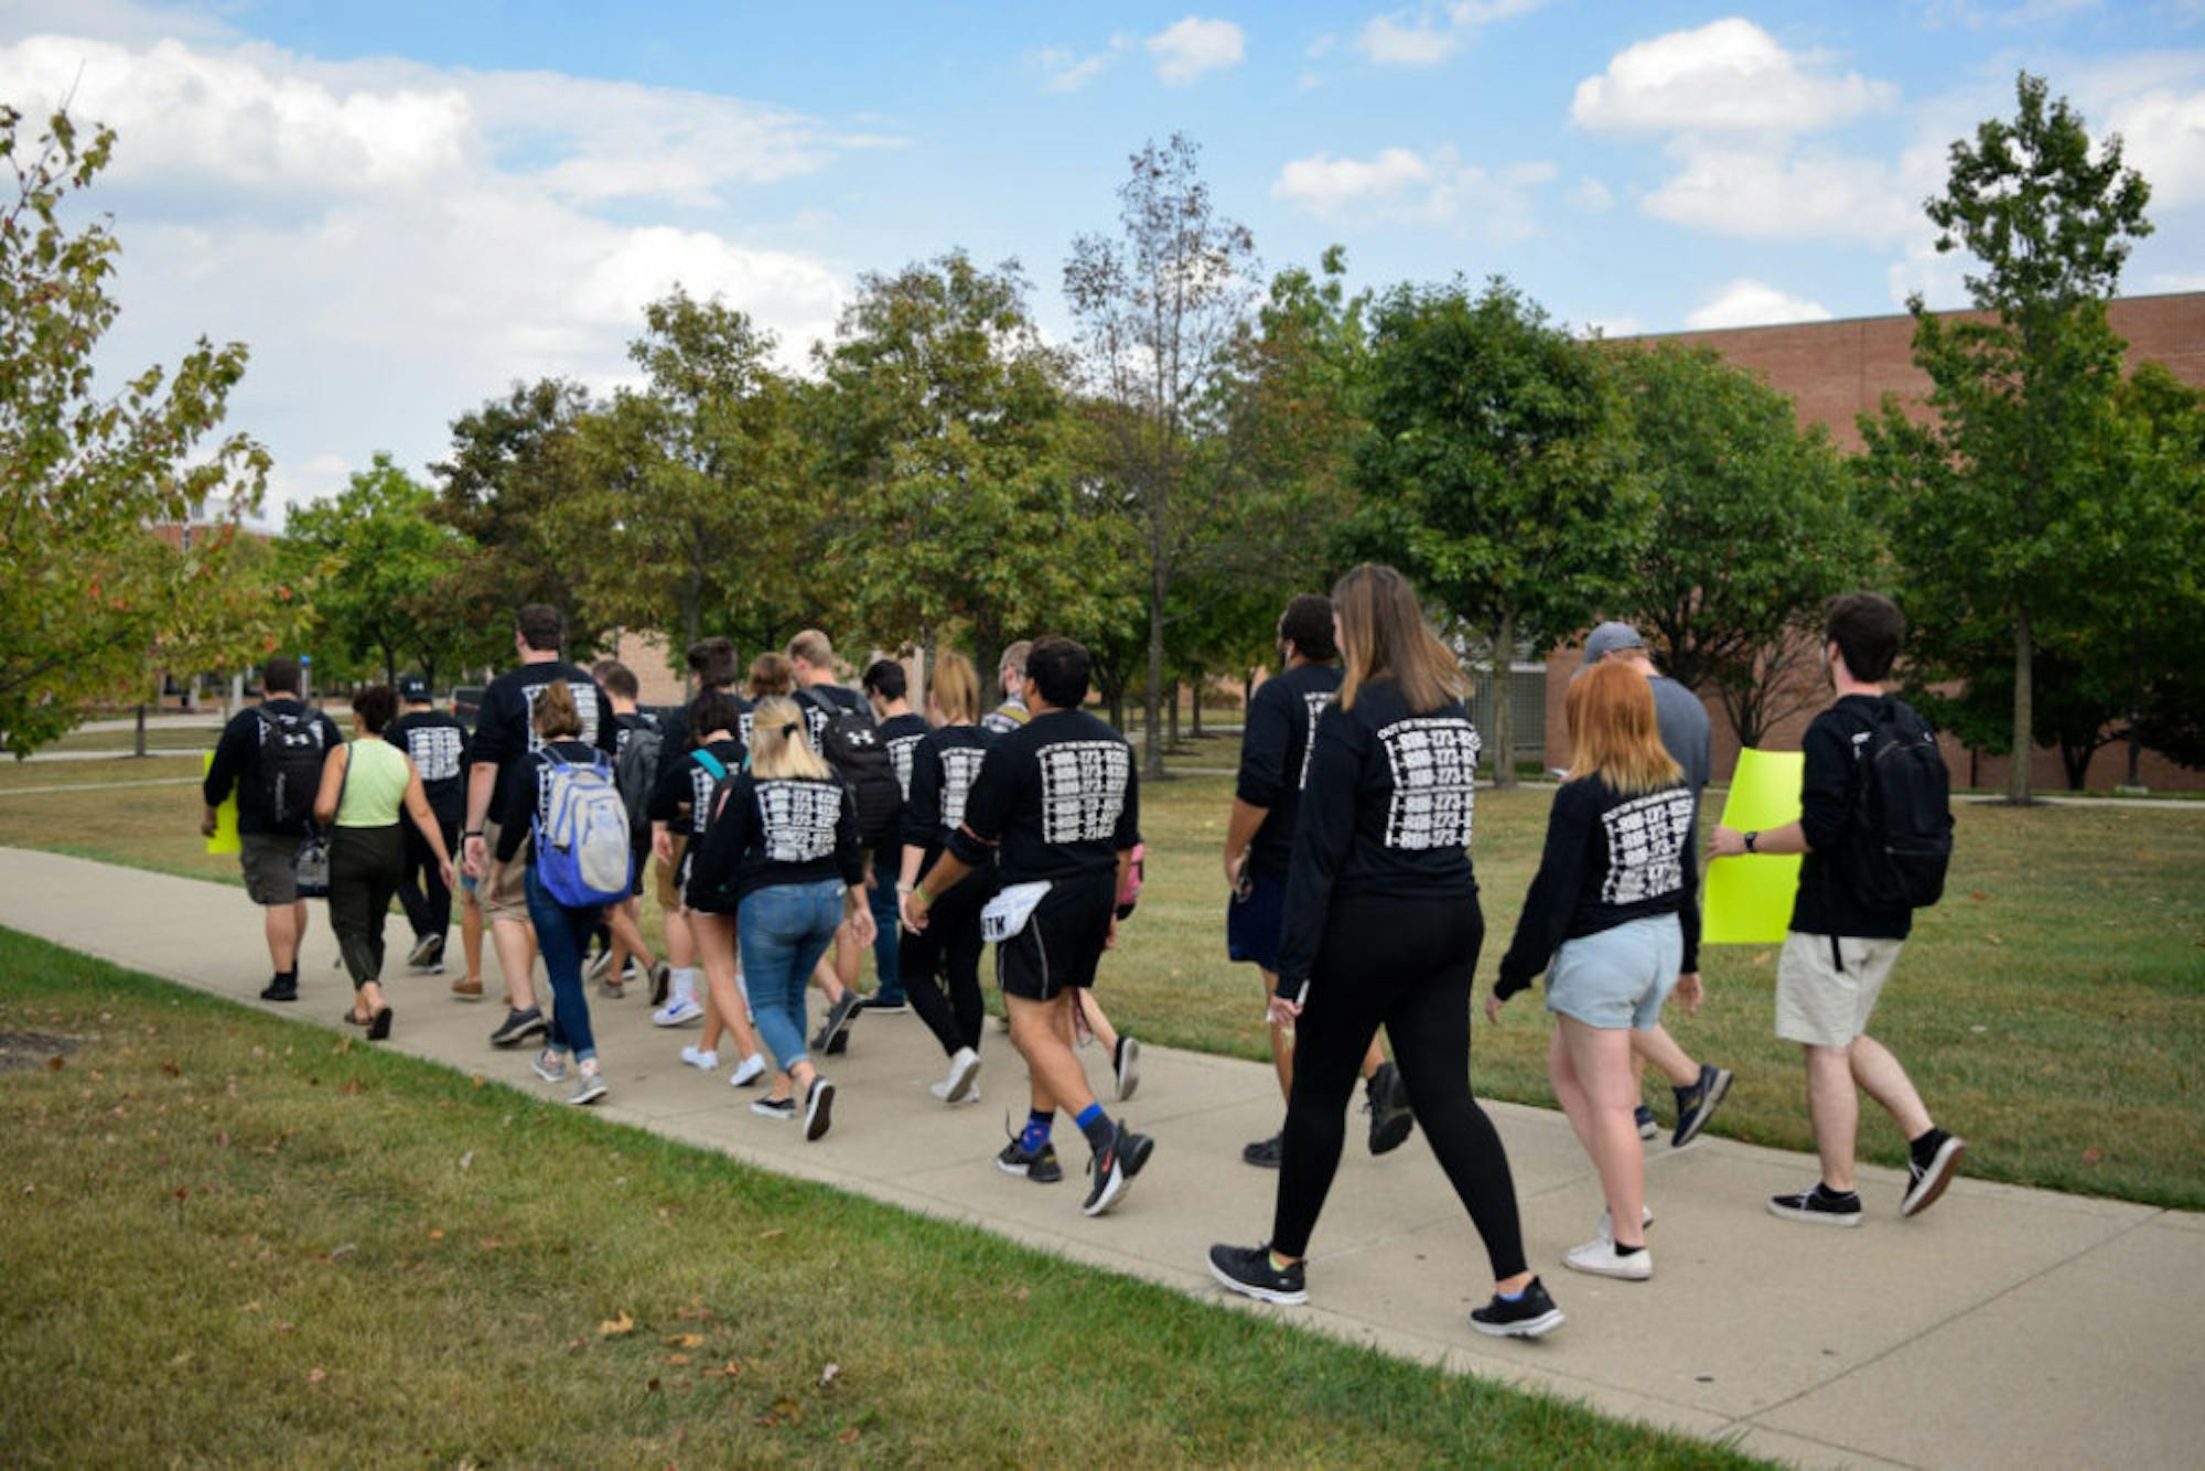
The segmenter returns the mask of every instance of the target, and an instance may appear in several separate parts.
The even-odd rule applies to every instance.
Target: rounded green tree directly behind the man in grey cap
[[[1621,611],[1665,673],[1722,699],[1744,745],[1821,695],[1821,604],[1859,587],[1874,534],[1824,426],[1709,348],[1612,348],[1654,498]]]

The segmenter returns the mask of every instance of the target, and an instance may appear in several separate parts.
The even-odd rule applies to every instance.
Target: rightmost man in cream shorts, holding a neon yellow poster
[[[1799,820],[1742,834],[1718,827],[1709,860],[1746,853],[1806,853],[1790,933],[1777,957],[1777,1037],[1806,1054],[1808,1116],[1821,1180],[1768,1202],[1771,1215],[1817,1226],[1859,1226],[1861,1198],[1852,1189],[1852,1149],[1861,1127],[1861,1098],[1883,1105],[1907,1136],[1907,1191],[1901,1215],[1936,1204],[1960,1167],[1967,1142],[1929,1118],[1907,1070],[1868,1034],[1883,981],[1914,926],[1910,909],[1868,909],[1846,878],[1852,851],[1846,829],[1859,823],[1865,774],[1861,745],[1896,701],[1883,679],[1907,635],[1907,620],[1890,598],[1850,593],[1835,598],[1824,618],[1824,664],[1837,704],[1815,717],[1799,748],[1806,772]],[[1914,717],[1918,723],[1921,717]]]

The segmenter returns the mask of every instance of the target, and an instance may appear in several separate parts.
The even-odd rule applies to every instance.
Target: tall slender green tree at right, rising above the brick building
[[[2106,324],[2130,240],[2150,234],[2150,187],[2121,168],[2119,137],[2093,143],[2042,77],[2015,82],[2018,110],[1951,146],[1945,194],[1927,201],[1938,251],[1965,249],[1980,318],[1943,320],[1921,296],[1914,364],[1932,382],[1929,426],[1887,401],[1861,434],[1892,492],[1892,543],[1921,620],[1921,651],[1969,677],[1956,655],[1971,624],[2007,633],[2013,752],[2007,798],[2031,798],[2037,648],[2062,606],[2106,573],[2112,547],[2090,505],[2121,340]]]

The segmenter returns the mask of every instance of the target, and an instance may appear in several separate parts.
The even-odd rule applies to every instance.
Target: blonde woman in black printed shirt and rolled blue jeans
[[[856,798],[811,750],[794,699],[774,695],[752,712],[750,765],[706,829],[690,889],[734,904],[752,1014],[781,1070],[752,1112],[800,1116],[805,1138],[820,1138],[833,1083],[805,1052],[805,981],[845,920],[858,944],[873,944],[873,913]]]

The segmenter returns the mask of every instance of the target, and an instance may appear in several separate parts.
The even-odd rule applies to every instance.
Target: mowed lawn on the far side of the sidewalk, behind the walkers
[[[1230,767],[1233,739],[1188,743],[1180,767]],[[185,761],[0,765],[0,840],[236,882],[205,856],[196,792],[22,794],[24,785],[146,781]],[[1257,975],[1224,955],[1217,849],[1228,776],[1144,790],[1149,887],[1105,962],[1111,1019],[1149,1041],[1268,1056]],[[1477,865],[1486,913],[1480,975],[1508,944],[1546,829],[1548,790],[1482,792]],[[1707,820],[1722,794],[1707,803]],[[1876,1017],[1932,1112],[1965,1134],[1969,1173],[2205,1209],[2205,805],[2015,812],[1962,803],[1947,898],[1918,917]],[[326,935],[324,935],[326,942]],[[456,946],[454,946],[456,953]],[[1667,1021],[1687,1052],[1738,1072],[1715,1134],[1806,1149],[1797,1050],[1771,1034],[1775,946],[1713,946],[1709,1003]],[[1548,1017],[1515,1001],[1473,1030],[1473,1087],[1550,1103]],[[1667,1120],[1667,1087],[1647,1096]],[[1903,1142],[1870,1109],[1861,1149],[1896,1164]]]

